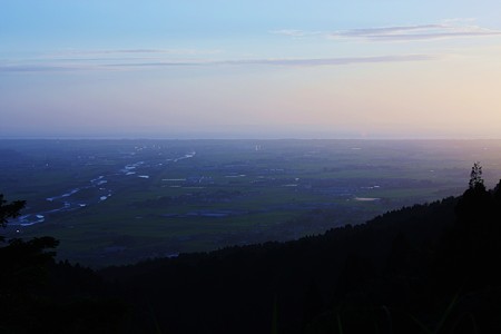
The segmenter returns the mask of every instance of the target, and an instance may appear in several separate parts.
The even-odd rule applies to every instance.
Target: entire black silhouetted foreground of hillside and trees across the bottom
[[[364,225],[99,273],[55,264],[51,238],[13,240],[0,332],[501,333],[500,240],[501,187],[473,176]]]

